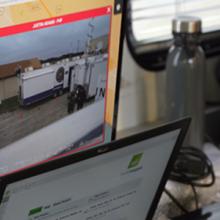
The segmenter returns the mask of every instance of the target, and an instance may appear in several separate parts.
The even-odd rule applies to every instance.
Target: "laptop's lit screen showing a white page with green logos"
[[[144,220],[179,133],[168,132],[10,184],[0,219]]]

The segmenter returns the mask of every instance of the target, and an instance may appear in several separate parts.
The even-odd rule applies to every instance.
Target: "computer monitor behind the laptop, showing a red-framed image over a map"
[[[0,174],[114,139],[123,0],[0,2]]]

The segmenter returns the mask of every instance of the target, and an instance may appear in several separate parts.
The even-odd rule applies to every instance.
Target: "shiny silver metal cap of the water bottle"
[[[202,31],[202,21],[198,17],[178,16],[172,23],[174,33],[194,34]]]

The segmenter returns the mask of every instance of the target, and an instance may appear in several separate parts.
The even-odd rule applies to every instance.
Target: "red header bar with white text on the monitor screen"
[[[14,25],[10,27],[0,28],[0,37],[5,37],[13,34],[19,34],[28,31],[39,30],[43,28],[53,27],[74,21],[85,20],[92,17],[98,17],[103,15],[110,15],[112,13],[112,7],[98,8],[89,11],[83,11],[75,14],[69,14],[54,18],[48,18],[44,20],[29,22],[25,24]]]

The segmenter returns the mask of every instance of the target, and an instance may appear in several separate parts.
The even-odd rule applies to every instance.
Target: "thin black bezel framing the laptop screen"
[[[54,159],[48,161],[44,164],[40,164],[34,167],[27,168],[25,170],[21,170],[19,172],[15,172],[12,174],[8,174],[0,178],[0,204],[2,202],[2,197],[7,185],[25,180],[43,173],[47,173],[71,164],[79,163],[83,160],[90,159],[96,157],[98,155],[103,155],[118,149],[125,148],[129,145],[141,142],[143,140],[147,140],[171,131],[175,131],[180,129],[180,134],[177,138],[173,151],[168,160],[165,171],[161,177],[160,184],[155,193],[154,199],[151,203],[150,209],[146,213],[146,220],[152,219],[155,210],[158,206],[161,194],[163,192],[164,186],[169,178],[170,171],[172,169],[173,163],[177,157],[179,149],[182,147],[182,142],[184,140],[185,134],[187,132],[188,126],[190,124],[190,119],[182,119],[180,121],[173,122],[171,124],[167,124],[164,126],[160,126],[158,128],[141,132],[139,134],[135,134],[120,140],[113,141],[111,143],[103,144],[97,148],[93,148],[87,151],[82,151],[76,154],[71,154],[66,157],[61,157],[58,159]]]

